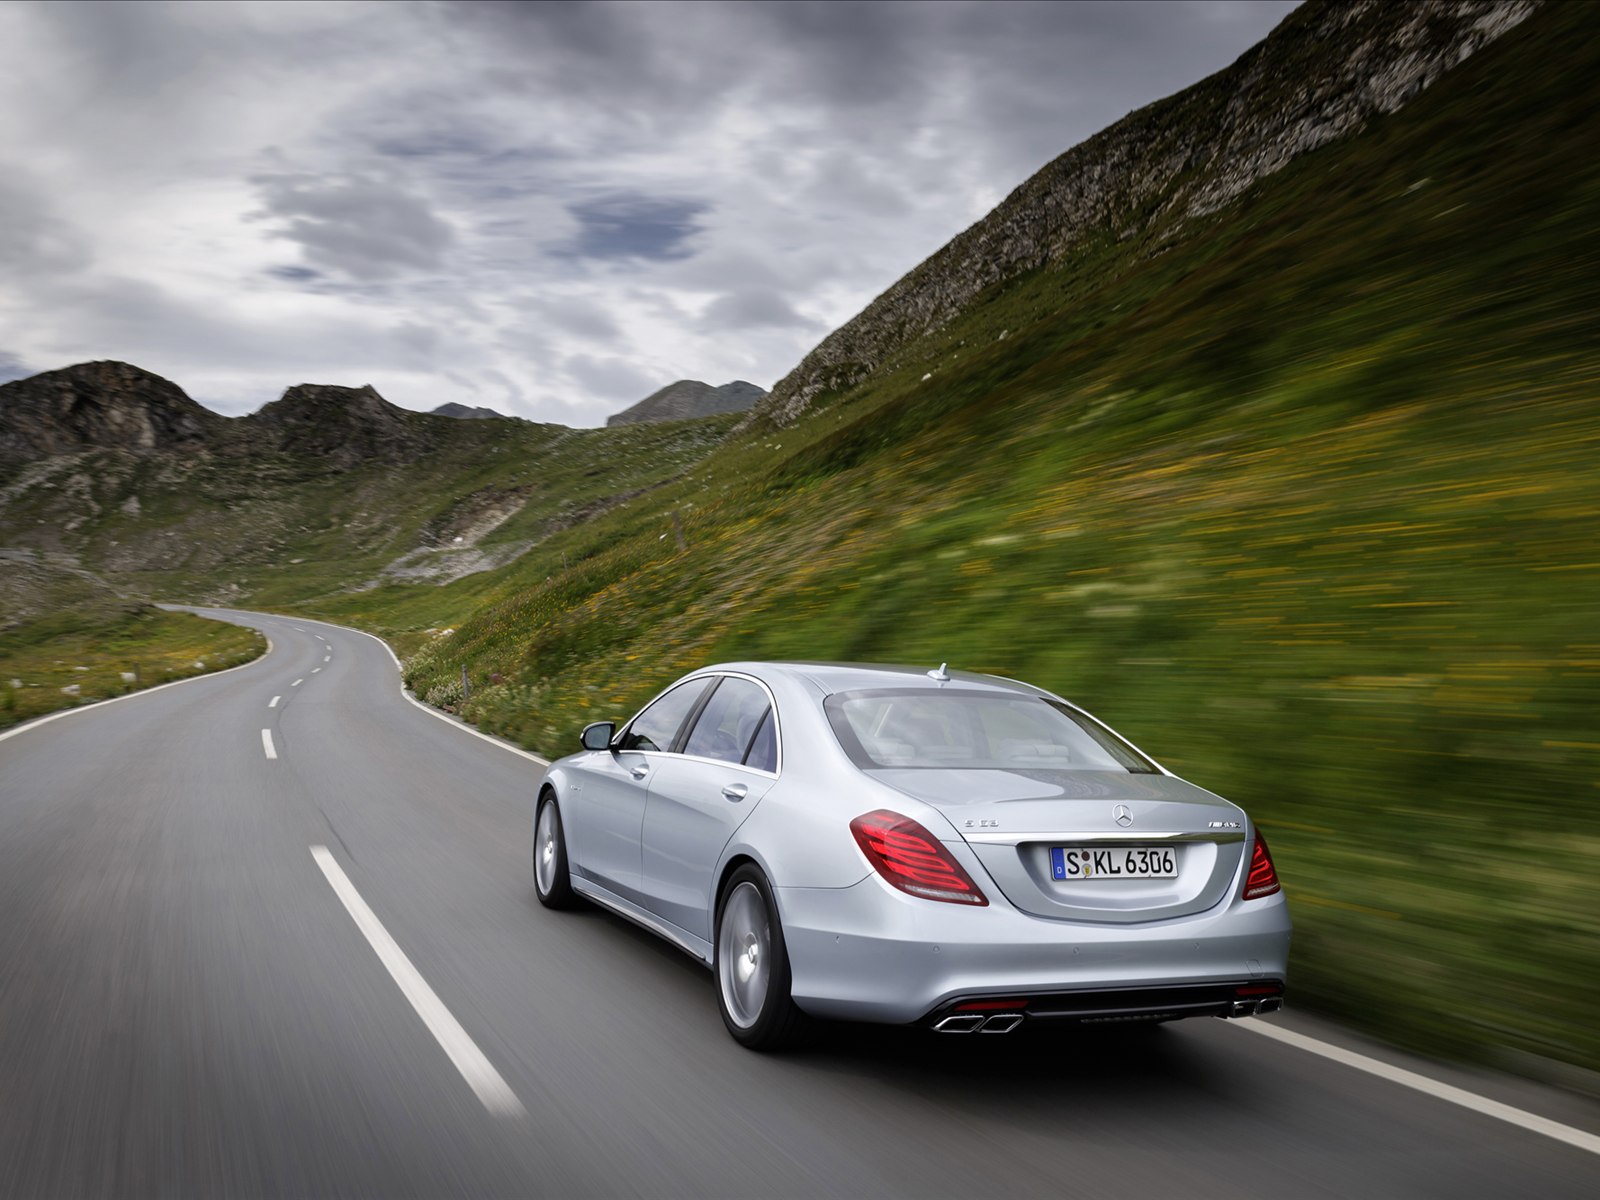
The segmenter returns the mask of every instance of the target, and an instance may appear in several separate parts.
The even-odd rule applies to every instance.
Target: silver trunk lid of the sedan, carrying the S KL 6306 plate
[[[1243,862],[1243,811],[1170,774],[946,768],[872,776],[938,808],[1005,898],[1035,917],[1134,923],[1205,912],[1230,893]],[[1058,878],[1067,864],[1053,851],[1078,856],[1083,869]],[[1168,851],[1171,877],[1122,870]]]

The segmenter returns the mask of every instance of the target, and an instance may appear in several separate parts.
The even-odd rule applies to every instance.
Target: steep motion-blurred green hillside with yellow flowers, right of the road
[[[1600,1067],[1597,26],[496,573],[306,608],[546,754],[726,658],[1038,682],[1270,830],[1299,1003]]]

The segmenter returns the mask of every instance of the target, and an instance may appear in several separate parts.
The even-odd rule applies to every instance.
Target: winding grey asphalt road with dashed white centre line
[[[373,638],[227,616],[272,651],[0,741],[3,1195],[1600,1195],[1594,1152],[1250,1022],[744,1051],[704,968],[538,906],[536,762],[413,706]]]

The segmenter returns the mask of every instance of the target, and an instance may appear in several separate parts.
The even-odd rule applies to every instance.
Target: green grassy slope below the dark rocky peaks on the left
[[[0,477],[0,544],[67,555],[131,595],[272,606],[514,558],[646,493],[736,419],[566,429],[421,418],[432,448],[339,469],[293,453],[123,450]]]

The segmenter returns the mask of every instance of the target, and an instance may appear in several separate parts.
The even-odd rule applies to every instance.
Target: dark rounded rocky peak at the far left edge
[[[5,461],[96,448],[197,450],[226,424],[178,384],[128,363],[78,363],[0,384]]]

